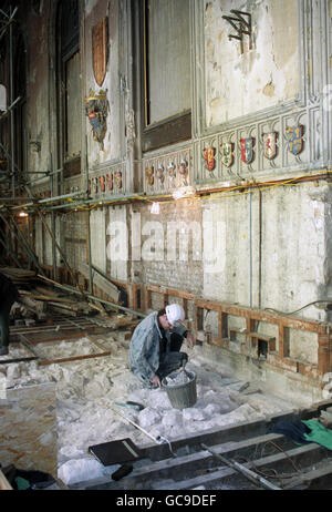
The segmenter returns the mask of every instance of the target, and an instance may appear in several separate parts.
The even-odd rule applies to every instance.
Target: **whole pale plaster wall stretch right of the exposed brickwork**
[[[204,296],[283,313],[329,297],[329,195],[309,184],[205,201]],[[326,318],[315,306],[299,315]]]

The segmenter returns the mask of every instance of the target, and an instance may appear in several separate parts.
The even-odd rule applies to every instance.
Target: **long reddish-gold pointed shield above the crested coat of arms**
[[[101,88],[107,66],[107,18],[92,29],[92,61],[94,79]]]

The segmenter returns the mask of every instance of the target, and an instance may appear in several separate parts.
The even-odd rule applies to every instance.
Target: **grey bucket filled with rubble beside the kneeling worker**
[[[166,389],[172,407],[174,407],[174,409],[186,409],[187,407],[195,406],[197,401],[196,373],[186,370],[186,375],[189,379],[187,382],[178,385],[167,383],[167,379],[175,378],[177,375],[179,375],[179,372],[174,371],[162,380],[162,385]]]

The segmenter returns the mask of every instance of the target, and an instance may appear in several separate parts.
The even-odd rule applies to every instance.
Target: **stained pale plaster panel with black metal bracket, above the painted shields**
[[[222,16],[252,13],[252,49]],[[297,0],[206,2],[206,124],[212,126],[294,99],[299,93]]]

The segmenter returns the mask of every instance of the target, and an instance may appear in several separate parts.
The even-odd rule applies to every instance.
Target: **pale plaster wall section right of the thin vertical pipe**
[[[262,305],[293,311],[321,295],[326,257],[325,194],[329,186],[283,186],[263,195]],[[272,284],[272,286],[271,286]],[[304,315],[318,320],[314,306]]]

